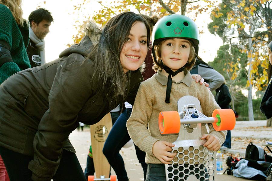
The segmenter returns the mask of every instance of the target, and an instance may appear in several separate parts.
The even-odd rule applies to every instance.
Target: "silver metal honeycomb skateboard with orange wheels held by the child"
[[[212,123],[216,131],[232,130],[235,114],[232,109],[218,109],[207,117],[199,111],[199,100],[193,96],[181,97],[177,104],[178,111],[159,114],[161,134],[179,133],[172,150],[177,154],[172,164],[165,164],[166,180],[215,181],[216,153],[203,146],[206,140],[201,140],[201,123]]]

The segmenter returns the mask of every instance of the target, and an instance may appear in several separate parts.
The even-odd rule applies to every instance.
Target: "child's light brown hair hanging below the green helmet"
[[[154,46],[154,49],[155,49],[155,52],[156,52],[157,62],[153,61],[154,65],[153,65],[152,68],[155,71],[163,69],[164,64],[163,64],[163,61],[161,59],[161,43],[163,41],[165,41],[165,40],[160,41],[158,45]],[[190,54],[189,54],[189,57],[188,57],[188,61],[187,61],[186,65],[185,65],[185,69],[187,69],[187,70],[191,70],[193,65],[196,62],[195,48],[193,47],[193,45],[192,45],[192,43],[190,41],[189,41],[189,44],[190,44]],[[152,56],[153,56],[153,54],[152,54]],[[154,57],[153,57],[153,60],[154,60]]]

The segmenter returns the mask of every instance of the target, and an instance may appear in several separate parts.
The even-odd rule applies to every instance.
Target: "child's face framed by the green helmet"
[[[173,71],[183,67],[189,58],[191,43],[181,38],[167,39],[161,43],[161,59]]]

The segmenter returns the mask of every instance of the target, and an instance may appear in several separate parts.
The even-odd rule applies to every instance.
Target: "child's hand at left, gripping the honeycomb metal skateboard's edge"
[[[156,141],[152,147],[152,153],[163,164],[170,164],[176,153],[170,153],[175,145],[167,141]]]

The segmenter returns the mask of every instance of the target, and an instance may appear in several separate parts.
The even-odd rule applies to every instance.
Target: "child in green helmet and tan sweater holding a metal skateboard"
[[[154,26],[152,41],[153,68],[157,73],[140,85],[127,128],[134,143],[146,152],[147,180],[165,181],[164,164],[170,164],[176,155],[170,152],[178,134],[160,134],[160,111],[177,110],[178,99],[186,95],[196,97],[201,104],[200,111],[208,117],[220,107],[209,89],[196,84],[189,73],[199,44],[198,28],[190,18],[177,14],[163,17]],[[226,131],[217,132],[211,124],[209,129],[207,134],[202,124],[201,139],[207,140],[203,146],[217,151]]]

